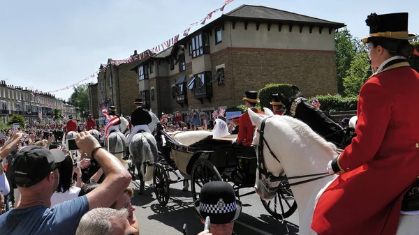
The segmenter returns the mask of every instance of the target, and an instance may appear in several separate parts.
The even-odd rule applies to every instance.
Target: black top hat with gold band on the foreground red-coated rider
[[[369,36],[362,38],[362,43],[367,45],[369,38],[393,38],[411,40],[418,36],[407,30],[409,13],[391,13],[377,15],[372,13],[365,22],[369,26]]]

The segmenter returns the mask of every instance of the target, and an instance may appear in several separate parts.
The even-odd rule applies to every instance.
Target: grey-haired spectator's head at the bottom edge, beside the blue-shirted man
[[[83,215],[76,235],[134,234],[126,219],[126,209],[96,208]]]

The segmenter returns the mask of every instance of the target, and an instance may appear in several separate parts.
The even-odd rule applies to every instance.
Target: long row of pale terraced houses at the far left
[[[56,109],[64,107],[64,100],[50,93],[27,89],[0,81],[0,121],[7,123],[12,114],[23,116],[28,123],[49,121],[56,115]]]

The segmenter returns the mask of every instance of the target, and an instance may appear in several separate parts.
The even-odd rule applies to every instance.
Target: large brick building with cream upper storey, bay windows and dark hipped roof
[[[335,30],[343,26],[242,5],[132,70],[140,97],[156,114],[189,109],[211,114],[242,104],[244,91],[271,83],[295,84],[306,96],[332,94]]]

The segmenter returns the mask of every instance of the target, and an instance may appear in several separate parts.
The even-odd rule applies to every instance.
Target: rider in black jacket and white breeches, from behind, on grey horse
[[[141,106],[142,99],[136,98],[134,104],[137,105],[137,109],[131,113],[131,125],[134,126],[134,128],[129,134],[127,139],[128,143],[131,143],[133,136],[140,130],[145,130],[150,134],[152,133],[148,126],[148,124],[152,122],[152,116],[150,116],[149,112]]]

